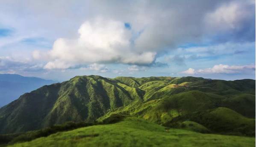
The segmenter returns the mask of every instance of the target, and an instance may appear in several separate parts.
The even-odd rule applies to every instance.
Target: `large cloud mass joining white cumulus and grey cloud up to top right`
[[[66,69],[92,63],[154,65],[158,54],[187,42],[218,43],[218,35],[225,38],[220,42],[255,40],[255,14],[251,13],[255,4],[250,0],[95,0],[90,5],[98,9],[91,10],[77,38],[57,39],[46,55],[33,53],[36,59],[46,58],[44,68]],[[129,28],[125,27],[128,23]]]

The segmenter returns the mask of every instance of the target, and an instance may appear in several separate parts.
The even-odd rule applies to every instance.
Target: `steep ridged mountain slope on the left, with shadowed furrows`
[[[142,100],[143,91],[122,86],[101,76],[76,76],[25,93],[0,109],[0,133],[35,130],[67,121],[90,122],[109,109]]]

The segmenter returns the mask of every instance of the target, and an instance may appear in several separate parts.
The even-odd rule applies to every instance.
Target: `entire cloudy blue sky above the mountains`
[[[255,0],[1,0],[0,73],[255,79]]]

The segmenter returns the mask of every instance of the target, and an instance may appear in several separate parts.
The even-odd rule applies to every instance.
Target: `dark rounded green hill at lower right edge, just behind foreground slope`
[[[211,129],[214,133],[255,136],[255,119],[248,119],[225,107],[197,112],[189,118]]]

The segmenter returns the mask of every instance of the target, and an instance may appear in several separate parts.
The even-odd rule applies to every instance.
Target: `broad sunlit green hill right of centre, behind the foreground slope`
[[[126,114],[139,116],[150,122],[162,124],[171,119],[192,113],[199,110],[207,110],[215,107],[221,100],[221,96],[212,93],[203,93],[200,91],[188,91],[175,95],[162,95],[160,99],[148,102],[133,102],[126,107],[120,107],[107,113]],[[104,116],[103,116],[104,117]]]

